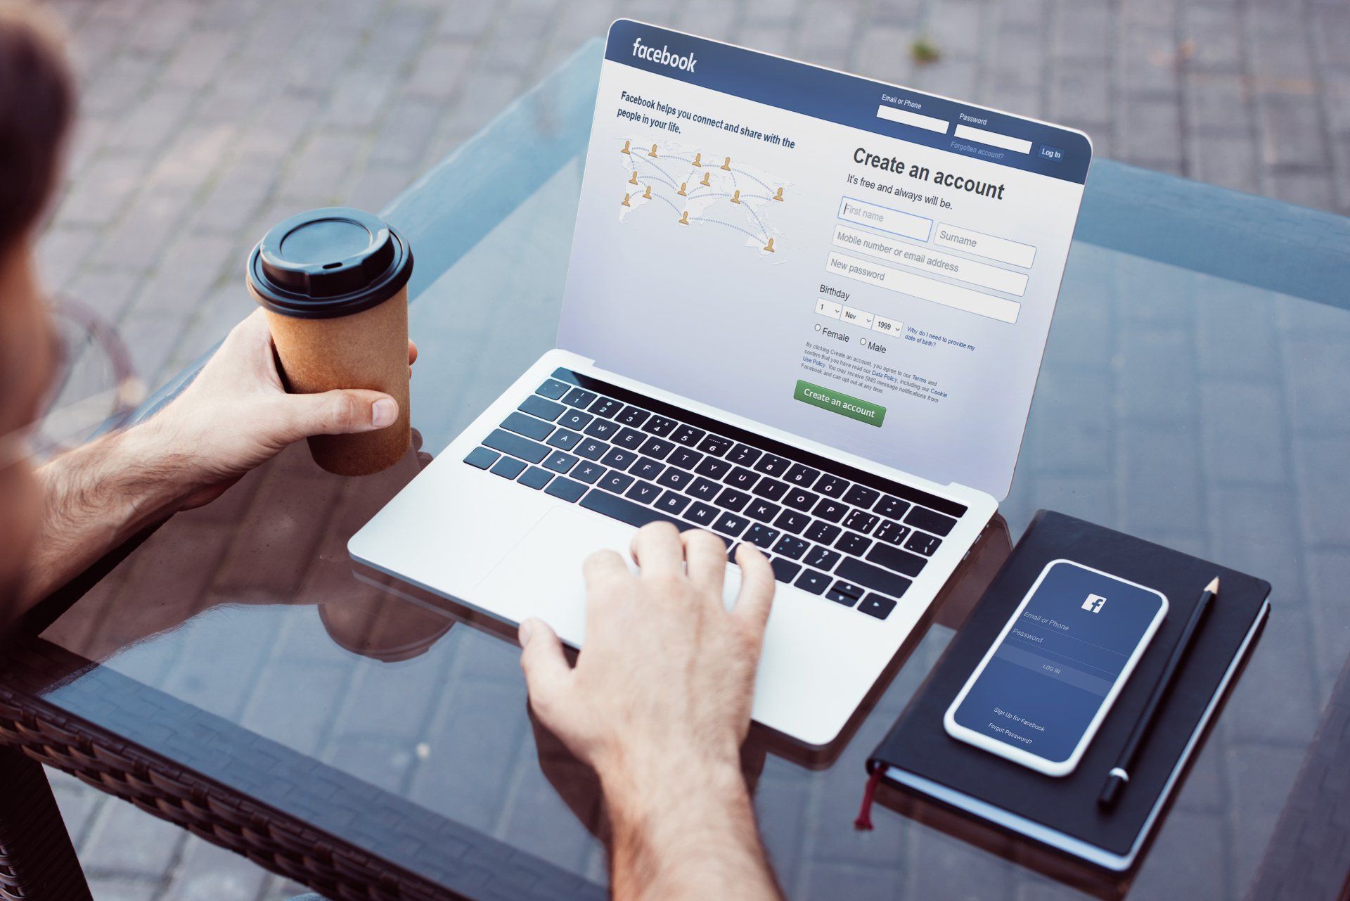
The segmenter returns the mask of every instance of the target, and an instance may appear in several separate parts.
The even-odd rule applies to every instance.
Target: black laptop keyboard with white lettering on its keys
[[[464,462],[629,525],[717,532],[729,559],[748,542],[778,581],[879,620],[965,513],[626,389],[554,376]]]

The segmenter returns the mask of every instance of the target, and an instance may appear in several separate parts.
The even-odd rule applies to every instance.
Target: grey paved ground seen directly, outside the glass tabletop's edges
[[[1087,130],[1099,154],[1350,212],[1350,7],[1318,0],[53,0],[84,105],[40,243],[151,384],[251,309],[247,247],[381,208],[616,15]],[[918,38],[940,59],[914,62]],[[1339,53],[1338,53],[1339,50]],[[54,774],[99,901],[277,898]]]

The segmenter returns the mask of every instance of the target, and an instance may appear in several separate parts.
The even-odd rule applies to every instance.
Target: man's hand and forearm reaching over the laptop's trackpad
[[[616,897],[776,898],[738,767],[774,571],[741,544],[726,611],[726,546],[711,532],[652,524],[632,550],[639,575],[613,551],[586,561],[575,667],[547,624],[521,624],[531,705],[599,774]]]

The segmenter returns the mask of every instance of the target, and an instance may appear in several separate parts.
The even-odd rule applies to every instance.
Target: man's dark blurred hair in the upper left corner
[[[0,253],[36,227],[74,107],[61,30],[27,3],[0,0]]]

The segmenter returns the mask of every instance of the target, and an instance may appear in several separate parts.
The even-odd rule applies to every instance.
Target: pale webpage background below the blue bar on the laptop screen
[[[621,92],[740,122],[765,134],[778,132],[795,147],[775,146],[688,119],[670,134],[617,116],[618,109],[662,116],[625,103]],[[879,92],[880,93],[880,92]],[[629,209],[620,220],[626,184],[620,153],[625,139],[634,154],[652,143],[698,147],[717,172],[725,157],[774,173],[790,188],[784,203],[770,204],[778,230],[775,253],[747,246],[747,238],[709,223],[680,226],[668,205]],[[853,162],[857,147],[895,155],[909,166],[953,172],[1004,184],[1002,200],[936,188],[895,173]],[[641,163],[641,157],[639,157]],[[919,195],[940,195],[949,209],[848,184],[849,173],[894,184]],[[694,185],[690,185],[691,188]],[[718,93],[612,61],[602,63],[595,119],[582,181],[576,230],[559,326],[559,346],[597,361],[608,370],[675,392],[863,458],[918,474],[938,484],[959,482],[1007,496],[1050,316],[1077,217],[1083,186],[961,154],[934,150],[801,113]],[[832,242],[840,201],[852,197],[933,220],[1008,238],[1035,247],[1031,269],[972,257],[1029,274],[1022,304],[1008,324],[826,272],[832,253],[890,266]],[[729,209],[724,204],[722,211]],[[738,212],[738,211],[737,211]],[[709,213],[711,215],[711,213]],[[724,219],[726,216],[722,216]],[[892,235],[886,238],[902,242]],[[921,246],[921,242],[911,242]],[[927,247],[964,255],[950,247]],[[964,282],[932,273],[938,281]],[[819,286],[846,290],[849,305],[898,320],[906,328],[945,335],[976,346],[925,347],[883,336],[815,312]],[[973,285],[964,285],[973,288]],[[817,324],[848,332],[848,346],[821,340]],[[886,354],[856,343],[878,340]],[[936,380],[946,390],[941,403],[888,390],[878,394],[801,367],[809,342],[868,355]],[[882,427],[794,400],[798,378],[886,407]]]

